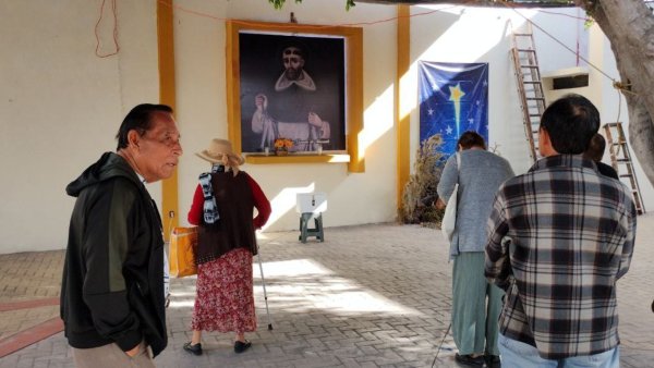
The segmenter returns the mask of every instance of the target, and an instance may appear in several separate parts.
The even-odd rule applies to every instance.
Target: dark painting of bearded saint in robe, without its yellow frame
[[[239,32],[241,149],[344,151],[346,39]]]

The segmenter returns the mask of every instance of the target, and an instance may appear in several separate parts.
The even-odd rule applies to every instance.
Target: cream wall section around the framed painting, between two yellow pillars
[[[346,12],[344,1],[287,1],[276,11],[267,1],[178,1],[187,9],[221,19],[287,23],[294,12],[300,24],[363,23],[392,17],[395,7],[356,4]],[[211,137],[227,137],[225,82],[226,26],[222,20],[175,11],[177,118],[185,154],[180,163],[180,211],[186,212],[197,175],[208,163],[195,157]],[[266,231],[298,229],[295,194],[326,192],[325,226],[393,221],[396,214],[396,138],[392,83],[395,81],[395,22],[364,28],[363,90],[365,173],[348,173],[346,163],[245,164],[272,203]],[[392,40],[389,42],[389,40]]]

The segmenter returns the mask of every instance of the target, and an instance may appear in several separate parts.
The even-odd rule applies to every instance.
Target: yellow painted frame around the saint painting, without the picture
[[[241,86],[239,33],[302,33],[342,36],[346,39],[346,140],[348,155],[292,155],[288,157],[247,155],[249,163],[348,162],[349,172],[364,172],[365,162],[359,148],[363,130],[363,28],[344,26],[299,25],[251,21],[227,22],[227,120],[228,134],[234,149],[241,151]]]

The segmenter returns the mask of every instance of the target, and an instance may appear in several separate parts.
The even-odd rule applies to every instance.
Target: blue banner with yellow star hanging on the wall
[[[459,136],[475,131],[488,143],[488,63],[419,62],[420,142],[443,136],[444,159]]]

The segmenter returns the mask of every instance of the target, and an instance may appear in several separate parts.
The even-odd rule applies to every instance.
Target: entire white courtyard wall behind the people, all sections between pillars
[[[104,59],[95,56],[94,27],[100,3],[0,1],[0,14],[10,14],[0,22],[0,253],[63,248],[74,203],[64,194],[65,185],[102,151],[114,149],[113,136],[129,109],[158,101],[156,1],[117,2],[121,49]],[[282,11],[265,0],[179,0],[174,4],[177,118],[185,151],[179,167],[182,224],[197,174],[208,167],[193,154],[206,148],[211,137],[227,136],[225,20],[288,22],[290,12],[301,24],[361,23],[364,28],[364,132],[359,138],[365,151],[365,173],[348,173],[344,163],[245,164],[243,169],[272,201],[266,231],[296,229],[295,194],[306,191],[327,193],[326,226],[395,219],[397,23],[384,20],[396,16],[396,7],[358,3],[346,12],[344,0],[304,0],[300,5],[287,1]],[[425,12],[432,13],[411,20],[412,68],[403,79],[417,83],[420,60],[489,63],[489,144],[497,146],[517,173],[524,172],[531,162],[509,58],[510,29],[524,19],[506,9],[434,5],[411,10],[413,15]],[[569,35],[568,41],[577,38],[578,22],[535,11],[526,14],[542,20],[540,25],[560,37]],[[106,9],[99,29],[102,51],[112,46],[111,21]],[[544,50],[541,44],[549,41],[540,36],[536,42],[544,70],[573,66],[567,65],[574,60],[566,56],[568,51]],[[589,53],[596,57],[592,48]],[[601,54],[603,63],[613,62],[615,68],[607,47]],[[606,82],[603,87],[607,88]],[[417,86],[408,90],[402,99],[416,100]],[[602,95],[607,121],[615,120],[614,100],[608,91]],[[626,121],[626,107],[622,115]],[[412,156],[417,136],[414,109]],[[640,173],[643,185],[646,181]],[[160,198],[159,184],[149,189]],[[645,206],[652,207],[647,205],[654,200],[651,186],[647,191]]]

